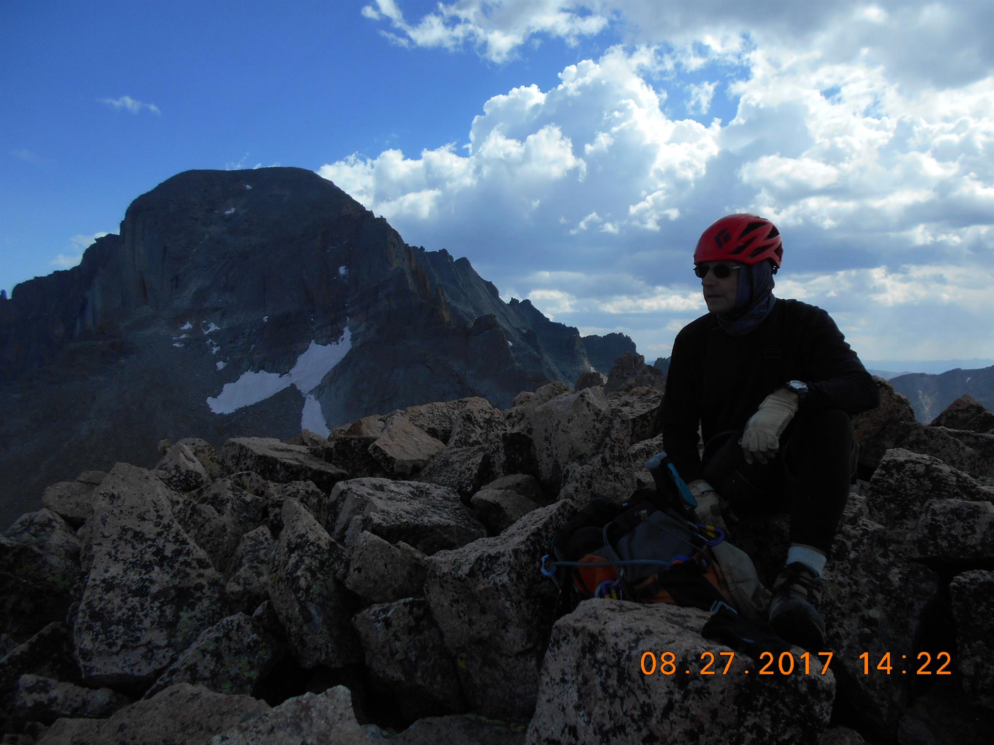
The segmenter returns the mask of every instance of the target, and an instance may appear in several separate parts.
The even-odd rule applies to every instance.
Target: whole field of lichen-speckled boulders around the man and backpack
[[[328,435],[164,440],[150,469],[52,484],[0,535],[3,741],[987,741],[994,434],[974,401],[927,426],[875,378],[814,662],[795,647],[759,675],[696,608],[557,609],[551,536],[594,493],[651,488],[662,392],[624,382],[644,368]],[[787,521],[731,524],[767,584]]]

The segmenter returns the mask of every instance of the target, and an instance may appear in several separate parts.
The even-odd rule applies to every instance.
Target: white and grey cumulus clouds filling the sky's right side
[[[465,143],[320,169],[409,242],[664,354],[704,312],[697,237],[753,212],[784,235],[777,294],[837,314],[857,351],[994,357],[994,3],[770,0],[761,19],[736,0],[405,7],[363,14],[411,54],[507,63],[548,38],[625,42],[554,85],[522,73]],[[734,115],[690,117],[719,106]]]

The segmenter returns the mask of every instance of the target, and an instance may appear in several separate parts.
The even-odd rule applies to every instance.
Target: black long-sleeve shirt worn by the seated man
[[[832,318],[799,300],[777,299],[748,334],[734,337],[709,313],[685,326],[673,343],[656,431],[681,477],[702,478],[698,425],[707,443],[741,431],[762,399],[788,380],[807,383],[800,412],[838,408],[849,414],[880,404],[870,373]]]

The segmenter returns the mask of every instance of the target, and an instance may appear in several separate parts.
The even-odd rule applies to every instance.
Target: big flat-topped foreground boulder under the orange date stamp
[[[709,617],[695,608],[580,603],[553,630],[526,742],[794,745],[813,740],[832,712],[831,668],[822,675],[821,666],[813,664],[805,674],[801,650],[794,648],[792,674],[759,675],[755,661],[740,653],[728,662],[720,653],[731,649],[701,637]],[[642,668],[646,653],[644,670],[651,674]],[[714,675],[701,674],[708,653],[716,660]],[[673,663],[666,668],[672,674],[664,674],[665,662]]]

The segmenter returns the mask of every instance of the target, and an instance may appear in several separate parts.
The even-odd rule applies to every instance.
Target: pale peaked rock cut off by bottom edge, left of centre
[[[217,735],[210,745],[368,745],[387,742],[372,724],[360,725],[352,709],[352,693],[344,685],[323,693],[287,698],[261,716],[248,718]]]

